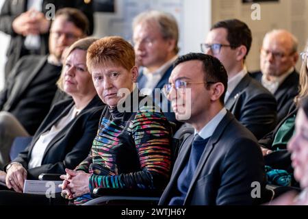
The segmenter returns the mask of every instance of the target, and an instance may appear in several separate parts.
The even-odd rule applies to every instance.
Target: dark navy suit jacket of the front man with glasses
[[[159,205],[168,205],[177,190],[177,179],[190,157],[193,135],[181,145]],[[264,160],[257,139],[227,112],[209,139],[196,167],[184,205],[251,205],[251,183],[264,192]]]

